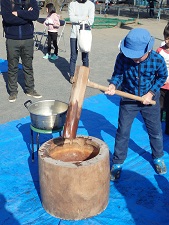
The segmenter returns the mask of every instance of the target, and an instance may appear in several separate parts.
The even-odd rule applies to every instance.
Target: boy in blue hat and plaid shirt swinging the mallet
[[[160,121],[160,88],[168,72],[164,58],[152,50],[154,38],[143,28],[132,29],[120,44],[114,72],[105,94],[114,95],[121,90],[143,98],[143,102],[121,98],[118,129],[116,132],[111,168],[111,180],[120,177],[122,165],[127,157],[131,125],[138,112],[141,113],[149,135],[152,158],[158,174],[167,172],[163,160],[163,136]],[[155,105],[150,105],[151,100]]]

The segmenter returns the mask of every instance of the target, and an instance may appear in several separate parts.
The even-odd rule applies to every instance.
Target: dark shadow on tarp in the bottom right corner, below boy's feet
[[[124,197],[126,208],[132,215],[134,220],[132,224],[158,225],[169,222],[169,182],[163,176],[154,175],[154,177],[156,182],[152,183],[139,173],[123,170],[120,182],[114,182],[115,188]],[[123,219],[125,220],[125,217]]]

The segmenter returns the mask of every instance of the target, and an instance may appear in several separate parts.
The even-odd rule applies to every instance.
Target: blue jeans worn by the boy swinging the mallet
[[[160,121],[160,93],[157,93],[154,100],[156,105],[143,105],[137,101],[122,98],[120,102],[118,129],[115,139],[113,163],[122,164],[128,151],[131,125],[138,112],[141,113],[149,135],[152,158],[163,156],[163,136]]]

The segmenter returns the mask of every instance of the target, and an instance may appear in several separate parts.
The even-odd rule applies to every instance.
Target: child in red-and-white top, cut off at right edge
[[[164,31],[164,45],[157,49],[157,52],[164,57],[168,69],[168,78],[165,84],[160,89],[160,104],[161,104],[161,119],[163,110],[166,112],[166,126],[165,133],[169,135],[169,23],[165,26]]]

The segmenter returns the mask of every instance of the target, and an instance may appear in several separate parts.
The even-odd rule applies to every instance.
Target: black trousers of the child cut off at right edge
[[[163,117],[163,111],[166,112],[165,119],[165,133],[169,134],[169,90],[160,89],[160,106],[161,106],[161,120]]]

